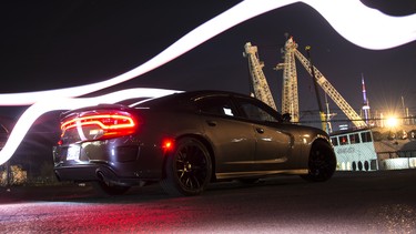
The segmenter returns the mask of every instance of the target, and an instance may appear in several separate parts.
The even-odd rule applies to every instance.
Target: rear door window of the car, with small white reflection
[[[207,96],[196,100],[199,111],[215,115],[234,116],[235,111],[232,108],[230,99],[226,96]]]

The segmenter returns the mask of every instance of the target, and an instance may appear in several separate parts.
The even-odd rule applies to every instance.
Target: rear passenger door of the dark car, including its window
[[[254,169],[255,133],[250,123],[236,118],[229,95],[195,100],[215,155],[219,177],[246,173]]]

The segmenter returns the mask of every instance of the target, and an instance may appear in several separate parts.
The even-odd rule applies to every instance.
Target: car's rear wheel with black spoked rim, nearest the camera
[[[174,196],[201,194],[211,181],[212,162],[205,145],[193,138],[177,141],[168,155],[163,190]]]

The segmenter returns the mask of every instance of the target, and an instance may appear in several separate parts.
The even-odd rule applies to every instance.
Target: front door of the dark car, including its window
[[[255,132],[255,164],[258,171],[291,169],[294,165],[292,150],[294,136],[280,129],[277,112],[272,112],[262,102],[252,99],[237,99],[239,106]]]

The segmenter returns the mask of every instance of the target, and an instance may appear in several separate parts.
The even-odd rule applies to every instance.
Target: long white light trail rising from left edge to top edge
[[[138,68],[128,71],[123,74],[120,74],[115,78],[67,89],[58,90],[48,90],[48,91],[38,91],[38,92],[27,92],[27,93],[10,93],[10,94],[0,94],[0,105],[28,105],[33,104],[39,101],[50,100],[54,96],[81,96],[88,93],[92,93],[124,81],[136,78],[141,74],[144,74],[155,68],[159,68],[169,61],[182,55],[183,53],[192,50],[199,44],[207,41],[209,39],[217,35],[219,33],[230,29],[233,26],[236,26],[250,18],[264,13],[266,11],[280,8],[290,3],[296,2],[295,0],[264,0],[262,4],[256,0],[246,0],[243,1],[230,10],[221,13],[220,16],[211,19],[210,21],[201,24],[195,28],[172,45],[166,48],[164,51],[146,61],[145,63],[139,65]]]

